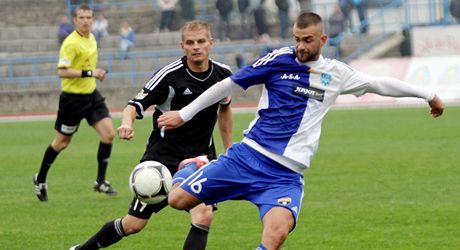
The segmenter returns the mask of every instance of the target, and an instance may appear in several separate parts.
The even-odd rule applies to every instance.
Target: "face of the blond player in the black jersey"
[[[206,29],[185,30],[182,33],[181,47],[187,60],[193,64],[199,65],[208,61],[212,45],[213,40]]]

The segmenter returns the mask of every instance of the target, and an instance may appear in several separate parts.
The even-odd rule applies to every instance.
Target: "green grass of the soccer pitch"
[[[235,141],[252,117],[235,114]],[[459,117],[460,107],[439,119],[426,108],[331,111],[305,173],[297,228],[283,249],[459,249]],[[53,123],[0,123],[0,249],[68,249],[128,210],[128,175],[151,120],[135,124],[133,141],[114,144],[108,178],[118,196],[92,191],[98,140],[84,122],[50,170],[49,202],[40,203],[32,175]],[[166,208],[111,249],[181,249],[188,228],[187,213]],[[254,249],[260,233],[255,206],[223,202],[208,249]]]

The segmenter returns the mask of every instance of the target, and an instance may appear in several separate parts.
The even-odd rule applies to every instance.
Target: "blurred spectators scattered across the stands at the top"
[[[180,23],[196,18],[195,4],[193,0],[155,0],[158,7],[159,18],[153,25],[157,27],[156,32],[169,32],[177,30]],[[301,10],[312,8],[312,1],[309,0],[210,0],[214,3],[215,14],[214,35],[217,41],[230,41],[238,39],[255,39],[258,43],[276,39],[288,39],[292,26],[292,17]],[[357,31],[366,34],[369,31],[368,23],[368,1],[365,0],[337,0],[334,11],[326,21],[326,31],[330,45],[335,47],[337,54],[340,54],[340,40],[344,31]],[[307,9],[306,9],[307,8]],[[276,12],[275,12],[276,11]],[[353,24],[353,15],[356,11],[359,23]],[[449,1],[451,16],[460,22],[460,0]],[[275,14],[278,22],[271,27],[268,23],[268,12]],[[273,19],[270,19],[273,21]],[[273,24],[273,23],[271,23]],[[103,37],[108,33],[108,21],[102,13],[98,13],[93,33],[101,44]],[[123,21],[122,26],[128,25]],[[129,25],[128,25],[129,26]],[[270,32],[270,30],[273,30]],[[120,51],[121,57],[127,58],[128,51],[135,44],[134,30],[136,27],[120,28]],[[129,31],[128,31],[129,30]],[[275,31],[276,30],[276,31]],[[59,22],[58,40],[59,44],[73,31],[73,26],[67,17],[63,15]]]

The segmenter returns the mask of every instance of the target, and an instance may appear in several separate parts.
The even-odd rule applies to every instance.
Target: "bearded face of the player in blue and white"
[[[311,25],[303,29],[294,25],[293,33],[297,59],[300,62],[318,60],[321,48],[327,41],[321,25]]]

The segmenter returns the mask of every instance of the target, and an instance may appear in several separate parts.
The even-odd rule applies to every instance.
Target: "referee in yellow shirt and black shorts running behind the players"
[[[75,31],[64,40],[57,65],[62,93],[54,126],[56,136],[45,151],[39,172],[33,177],[40,201],[48,200],[46,176],[51,164],[69,145],[83,118],[100,137],[94,190],[108,195],[117,193],[105,179],[115,130],[104,97],[96,89],[96,79],[103,81],[106,71],[96,67],[97,44],[91,33],[93,11],[86,4],[79,5],[73,13],[73,21]]]

